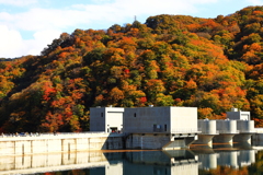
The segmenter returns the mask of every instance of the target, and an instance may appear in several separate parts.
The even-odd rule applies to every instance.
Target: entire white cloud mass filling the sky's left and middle
[[[198,12],[197,4],[218,2],[218,0],[91,1],[92,4],[72,4],[65,9],[34,8],[16,13],[1,12],[0,25],[4,27],[0,28],[0,46],[4,47],[4,50],[0,48],[0,57],[37,55],[61,32],[71,33],[72,31],[69,28],[98,28],[94,26],[95,24],[107,28],[113,24],[132,23],[135,15],[137,19],[157,14],[191,15]],[[37,3],[37,0],[0,0],[0,4],[26,5],[33,3]],[[32,39],[23,39],[21,31],[32,32]],[[12,42],[10,43],[10,40]]]

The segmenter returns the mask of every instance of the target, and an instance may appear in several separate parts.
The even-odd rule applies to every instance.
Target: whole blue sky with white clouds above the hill
[[[228,15],[263,0],[0,0],[0,58],[39,55],[61,33],[106,30],[158,14]]]

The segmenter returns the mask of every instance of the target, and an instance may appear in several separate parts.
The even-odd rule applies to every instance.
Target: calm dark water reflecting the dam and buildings
[[[0,158],[0,175],[260,175],[263,151],[250,145],[173,151],[71,152]]]

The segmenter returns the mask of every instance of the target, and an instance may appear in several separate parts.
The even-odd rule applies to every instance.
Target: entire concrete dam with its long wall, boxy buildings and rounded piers
[[[197,120],[196,107],[94,107],[90,132],[0,136],[0,155],[92,150],[176,150],[191,144],[261,140],[249,112],[228,112],[225,120]],[[252,139],[251,139],[252,138]]]

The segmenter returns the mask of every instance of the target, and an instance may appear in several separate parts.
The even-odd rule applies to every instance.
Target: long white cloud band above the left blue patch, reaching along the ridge
[[[3,0],[0,0],[3,1]],[[19,0],[11,0],[19,1]],[[30,0],[34,1],[34,0]],[[76,4],[67,9],[35,8],[26,12],[0,13],[0,24],[24,31],[64,30],[92,23],[127,23],[137,15],[187,14],[198,10],[197,3],[214,3],[217,0],[99,0],[96,4]],[[20,1],[19,1],[20,2]],[[101,3],[105,2],[105,3]],[[133,22],[133,21],[130,21]],[[92,28],[94,26],[91,26]]]

